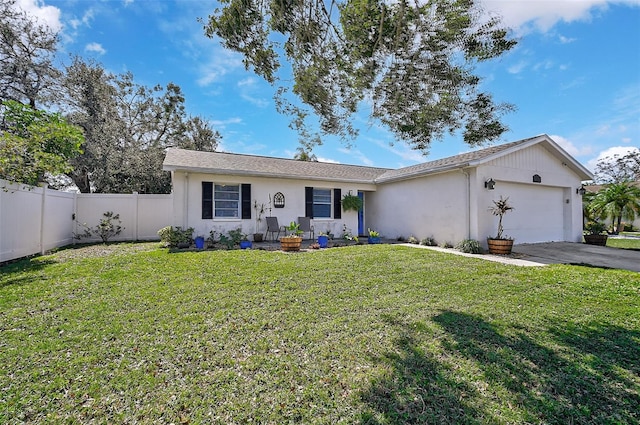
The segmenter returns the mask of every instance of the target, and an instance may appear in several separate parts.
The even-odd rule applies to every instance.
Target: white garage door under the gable
[[[501,182],[500,193],[515,208],[503,219],[505,235],[515,243],[564,240],[562,188]]]

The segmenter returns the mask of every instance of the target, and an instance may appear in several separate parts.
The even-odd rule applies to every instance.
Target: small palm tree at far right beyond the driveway
[[[589,209],[599,218],[610,218],[618,234],[623,219],[633,221],[640,214],[640,188],[632,183],[611,183],[596,193]]]

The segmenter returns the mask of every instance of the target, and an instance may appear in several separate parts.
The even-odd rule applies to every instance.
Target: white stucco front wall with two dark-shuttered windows
[[[251,205],[257,201],[265,204],[265,214],[259,223],[257,232],[264,233],[266,230],[265,217],[271,215],[278,218],[278,223],[287,225],[291,221],[297,221],[298,217],[305,215],[305,187],[318,187],[326,189],[341,189],[342,196],[349,191],[357,194],[358,190],[375,190],[373,185],[357,185],[339,182],[314,181],[314,180],[294,180],[280,178],[260,178],[246,176],[228,176],[203,173],[173,172],[173,195],[174,195],[174,217],[173,225],[183,228],[193,227],[195,235],[208,237],[211,230],[217,234],[226,233],[233,229],[242,229],[243,233],[251,235],[256,232],[256,211],[251,209],[251,219],[241,218],[213,218],[202,219],[202,182],[213,182],[214,184],[251,184]],[[284,208],[269,207],[269,196],[277,192],[282,192],[285,196]],[[333,191],[332,191],[333,196]],[[333,211],[333,209],[332,209]],[[333,217],[333,213],[332,213]],[[349,231],[357,234],[358,215],[354,211],[342,211],[340,219],[314,218],[312,225],[315,228],[316,236],[319,232],[331,231],[336,237],[342,235],[343,225]]]

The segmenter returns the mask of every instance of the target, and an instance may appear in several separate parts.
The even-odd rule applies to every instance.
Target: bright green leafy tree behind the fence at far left
[[[0,109],[0,177],[36,185],[47,174],[71,169],[80,154],[82,130],[68,124],[60,114],[37,111],[7,100]]]

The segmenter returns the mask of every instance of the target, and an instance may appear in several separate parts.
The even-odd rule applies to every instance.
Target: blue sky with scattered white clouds
[[[60,30],[60,60],[78,54],[153,86],[178,84],[188,113],[212,122],[221,150],[292,157],[298,136],[275,111],[274,89],[239,55],[204,36],[197,18],[216,2],[19,0]],[[483,0],[514,30],[518,46],[478,67],[483,89],[515,104],[501,142],[547,133],[593,169],[598,158],[640,146],[640,0]],[[392,143],[393,145],[390,145]],[[320,160],[396,168],[471,150],[461,137],[408,149],[361,120],[351,149],[327,138]]]

